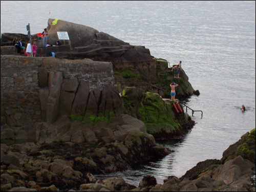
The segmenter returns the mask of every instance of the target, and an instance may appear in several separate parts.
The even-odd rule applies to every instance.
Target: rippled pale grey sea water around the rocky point
[[[158,183],[183,176],[255,128],[255,1],[1,1],[1,34],[31,34],[49,18],[92,27],[182,68],[199,96],[186,104],[196,125],[182,140],[165,143],[165,158],[105,177],[138,185],[145,175]],[[247,108],[241,112],[244,104]],[[191,115],[191,111],[188,110]],[[103,176],[98,176],[103,177]]]

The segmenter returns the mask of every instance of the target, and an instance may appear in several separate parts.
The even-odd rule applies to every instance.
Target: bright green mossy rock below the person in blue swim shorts
[[[147,133],[156,140],[170,139],[183,135],[183,116],[175,116],[173,105],[167,104],[158,95],[151,92],[142,93],[135,87],[125,87],[122,91],[125,113],[143,121]]]

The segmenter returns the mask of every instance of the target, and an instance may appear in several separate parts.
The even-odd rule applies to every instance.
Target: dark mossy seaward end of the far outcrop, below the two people
[[[129,86],[129,83],[132,86],[136,85],[136,88],[143,89],[143,92],[150,91],[153,93],[158,93],[163,98],[169,98],[170,95],[170,83],[175,81],[179,84],[176,88],[176,97],[177,98],[187,98],[193,94],[199,95],[199,91],[195,91],[191,84],[188,82],[188,77],[185,74],[184,70],[180,73],[180,78],[174,78],[174,73],[172,72],[172,67],[169,66],[169,63],[165,59],[154,58],[155,62],[151,71],[152,78],[148,78],[145,75],[145,71],[149,70],[145,66],[136,65],[136,67],[131,68],[131,66],[123,65],[121,71],[114,69],[115,82],[117,83],[127,83],[118,87],[119,92]],[[153,78],[154,76],[154,78]],[[134,83],[134,84],[133,84]],[[144,83],[144,84],[140,84]],[[148,84],[146,84],[148,83]],[[153,84],[155,87],[151,86]],[[120,85],[120,84],[119,84]]]

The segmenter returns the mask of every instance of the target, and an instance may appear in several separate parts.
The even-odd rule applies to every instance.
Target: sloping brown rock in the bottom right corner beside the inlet
[[[221,160],[199,162],[181,178],[169,176],[163,184],[142,185],[133,191],[255,191],[255,129],[230,145]],[[254,176],[254,179],[252,179]]]

